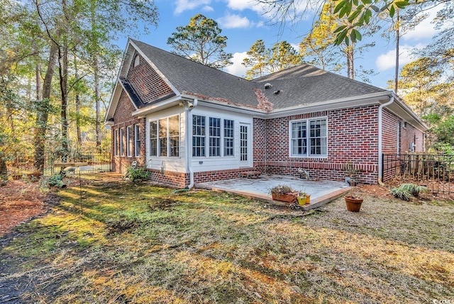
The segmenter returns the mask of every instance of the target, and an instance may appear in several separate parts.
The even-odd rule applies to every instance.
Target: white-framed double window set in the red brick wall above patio
[[[290,122],[290,156],[326,157],[327,124],[326,118]]]

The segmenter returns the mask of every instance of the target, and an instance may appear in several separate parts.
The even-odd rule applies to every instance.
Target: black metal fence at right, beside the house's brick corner
[[[382,181],[404,179],[434,193],[454,193],[454,155],[382,154]]]

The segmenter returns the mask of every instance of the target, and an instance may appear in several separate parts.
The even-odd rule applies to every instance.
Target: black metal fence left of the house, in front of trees
[[[44,171],[45,176],[51,176],[58,173],[60,167],[55,167],[57,162],[86,162],[87,166],[67,168],[67,174],[94,173],[102,171],[111,171],[111,153],[110,152],[73,152],[62,155],[60,153],[45,153]],[[36,171],[33,164],[33,155],[18,154],[16,157],[7,162],[9,174],[13,177],[20,178],[23,175],[31,174]],[[65,168],[64,168],[65,169]]]

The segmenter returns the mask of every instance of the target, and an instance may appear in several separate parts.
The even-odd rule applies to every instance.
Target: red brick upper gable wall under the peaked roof
[[[143,103],[149,103],[160,97],[172,94],[173,91],[170,89],[170,86],[162,80],[157,72],[150,67],[150,64],[143,57],[140,57],[140,55],[140,64],[134,67],[137,55],[138,53],[135,52],[128,71],[128,80],[133,85],[133,88]]]

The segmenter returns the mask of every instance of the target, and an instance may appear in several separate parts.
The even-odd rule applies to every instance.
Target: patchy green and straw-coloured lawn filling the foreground
[[[453,203],[302,213],[124,182],[79,191],[0,239],[0,303],[454,301]]]

